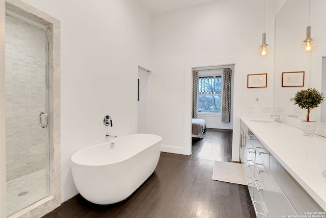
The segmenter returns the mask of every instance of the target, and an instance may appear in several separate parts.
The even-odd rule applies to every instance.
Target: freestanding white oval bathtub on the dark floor
[[[95,204],[128,198],[154,172],[161,139],[131,134],[73,154],[71,171],[80,195]]]

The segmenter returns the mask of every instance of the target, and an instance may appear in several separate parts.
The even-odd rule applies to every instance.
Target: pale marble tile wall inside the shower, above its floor
[[[6,15],[7,181],[46,164],[48,128],[39,125],[46,108],[45,30]]]

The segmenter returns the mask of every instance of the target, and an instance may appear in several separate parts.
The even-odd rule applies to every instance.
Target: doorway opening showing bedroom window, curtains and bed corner
[[[232,135],[234,64],[196,67],[192,72],[192,149],[197,150],[194,146],[201,144],[202,153],[210,153],[210,159],[216,159],[225,148],[219,143],[219,132],[228,131]],[[216,138],[203,140],[206,135]],[[232,136],[228,147],[232,150]]]

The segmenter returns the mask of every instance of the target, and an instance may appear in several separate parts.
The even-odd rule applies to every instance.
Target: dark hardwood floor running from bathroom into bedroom
[[[247,186],[212,180],[214,160],[231,162],[232,130],[207,129],[192,156],[161,153],[155,172],[128,199],[95,205],[77,195],[43,216],[255,217]]]

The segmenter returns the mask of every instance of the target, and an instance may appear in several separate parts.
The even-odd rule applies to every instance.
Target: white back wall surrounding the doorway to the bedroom
[[[191,95],[185,90],[189,86],[185,78],[191,74],[191,70],[185,71],[186,63],[200,60],[204,63],[205,60],[215,59],[215,63],[210,63],[221,65],[232,64],[219,62],[221,59],[234,57],[233,60],[238,60],[234,70],[237,84],[236,96],[233,96],[236,99],[233,123],[235,134],[239,132],[241,111],[246,116],[254,116],[247,110],[253,106],[257,96],[261,99],[255,105],[257,114],[262,113],[264,107],[272,108],[273,79],[268,80],[267,88],[247,89],[247,74],[267,72],[269,78],[273,78],[274,74],[273,51],[265,58],[256,55],[262,42],[262,8],[263,2],[259,0],[216,1],[154,17],[153,133],[162,136],[164,151],[188,154],[191,146],[191,140],[187,138],[188,130],[184,126],[191,108],[190,104],[184,105],[183,101],[184,96]],[[274,14],[268,8],[265,32],[267,43],[273,47]],[[267,116],[265,113],[260,115]],[[162,117],[165,122],[162,122]],[[238,137],[233,138],[234,144],[238,144],[238,141]],[[234,147],[233,160],[238,160],[236,150],[238,148]]]

